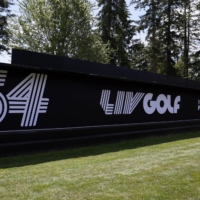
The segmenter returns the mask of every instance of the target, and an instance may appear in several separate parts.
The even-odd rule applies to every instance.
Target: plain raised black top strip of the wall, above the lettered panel
[[[27,68],[36,67],[40,70],[81,73],[125,81],[145,82],[200,90],[200,82],[198,81],[27,50],[12,49],[11,63]]]

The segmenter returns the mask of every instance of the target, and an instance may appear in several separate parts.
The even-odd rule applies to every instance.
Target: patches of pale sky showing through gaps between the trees
[[[95,2],[95,0],[90,0],[91,2]],[[131,0],[126,0],[126,3],[129,7],[129,11],[131,13],[131,19],[137,20],[139,19],[139,16],[144,14],[144,11],[139,11],[134,9],[134,5],[130,5]],[[11,7],[11,10],[15,12],[16,14],[19,14],[19,9],[16,3],[16,0],[14,0],[15,5]],[[94,13],[96,14],[98,10]],[[142,41],[145,40],[145,33],[140,33],[136,36],[136,38],[140,38]],[[0,54],[0,62],[1,63],[11,63],[11,56],[7,54]]]

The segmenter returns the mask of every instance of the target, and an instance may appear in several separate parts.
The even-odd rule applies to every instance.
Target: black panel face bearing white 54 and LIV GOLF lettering
[[[4,65],[0,70],[2,132],[200,118],[197,90]]]

